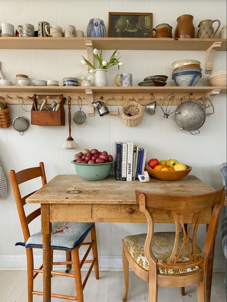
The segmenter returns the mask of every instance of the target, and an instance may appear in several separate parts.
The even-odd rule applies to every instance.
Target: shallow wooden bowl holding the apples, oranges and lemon
[[[192,167],[185,165],[187,170],[183,171],[161,171],[161,170],[154,170],[149,167],[145,167],[148,173],[153,176],[154,178],[161,179],[161,180],[179,180],[188,175],[191,172]]]

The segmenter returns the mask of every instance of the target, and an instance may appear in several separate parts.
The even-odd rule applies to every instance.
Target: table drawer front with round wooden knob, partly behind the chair
[[[169,211],[162,209],[150,209],[154,218],[169,219]],[[112,205],[99,204],[92,205],[92,218],[109,218],[109,219],[146,219],[140,211],[139,205]]]

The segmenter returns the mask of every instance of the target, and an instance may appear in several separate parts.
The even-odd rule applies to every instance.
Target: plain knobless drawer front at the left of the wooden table
[[[90,204],[50,204],[50,222],[91,221]]]

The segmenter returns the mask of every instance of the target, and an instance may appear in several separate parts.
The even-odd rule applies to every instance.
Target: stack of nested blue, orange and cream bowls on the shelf
[[[172,79],[177,86],[195,86],[202,76],[200,61],[184,59],[174,61]]]

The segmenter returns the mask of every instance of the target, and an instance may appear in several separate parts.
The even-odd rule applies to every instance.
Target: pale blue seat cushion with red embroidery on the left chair
[[[76,245],[81,245],[89,231],[94,226],[93,222],[52,222],[51,247],[72,250]],[[41,231],[30,236],[25,243],[18,242],[25,248],[42,247],[43,235]]]

